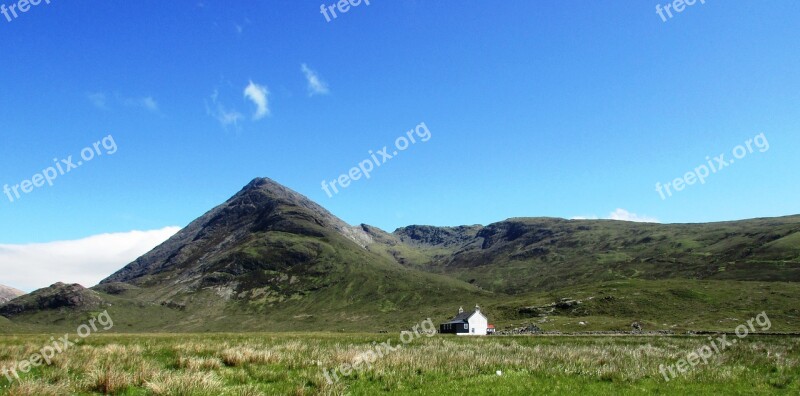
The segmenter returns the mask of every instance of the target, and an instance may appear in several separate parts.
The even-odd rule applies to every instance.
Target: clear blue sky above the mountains
[[[0,185],[108,135],[118,148],[0,196],[0,244],[185,226],[259,176],[390,231],[800,213],[800,3],[707,0],[667,22],[646,1],[372,0],[330,22],[321,3],[52,0],[0,16]],[[430,140],[321,189],[421,122]],[[760,133],[768,151],[655,191]]]

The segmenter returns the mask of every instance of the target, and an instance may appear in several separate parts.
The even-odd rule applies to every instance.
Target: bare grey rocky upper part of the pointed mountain
[[[272,179],[256,178],[102,283],[146,282],[152,275],[173,270],[189,276],[201,268],[227,265],[221,262],[234,260],[232,254],[248,249],[245,246],[265,233],[316,238],[330,232],[361,249],[372,242],[361,228],[348,225],[304,195]]]

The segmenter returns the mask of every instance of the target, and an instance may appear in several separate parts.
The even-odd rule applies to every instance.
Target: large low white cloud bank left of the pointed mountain
[[[180,227],[0,245],[0,284],[33,291],[56,282],[91,287],[175,235]]]

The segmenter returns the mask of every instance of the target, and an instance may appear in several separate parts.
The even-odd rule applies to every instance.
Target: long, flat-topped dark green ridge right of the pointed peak
[[[402,265],[507,294],[631,278],[800,281],[800,216],[710,224],[518,218],[410,226],[374,239],[374,249]]]

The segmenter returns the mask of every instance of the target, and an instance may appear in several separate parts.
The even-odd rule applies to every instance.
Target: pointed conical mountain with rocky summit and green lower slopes
[[[178,311],[181,328],[227,328],[231,317],[249,328],[298,320],[358,328],[392,323],[399,310],[452,309],[462,297],[488,295],[372,253],[373,243],[308,198],[256,179],[95,289]]]

